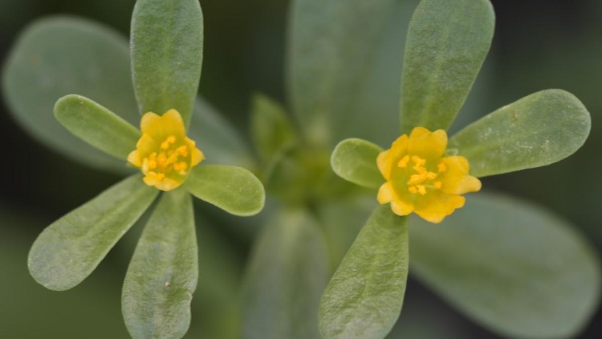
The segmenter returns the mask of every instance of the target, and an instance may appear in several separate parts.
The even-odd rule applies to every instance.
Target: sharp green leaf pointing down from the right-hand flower
[[[382,339],[402,310],[408,277],[406,218],[374,210],[320,300],[324,339]]]

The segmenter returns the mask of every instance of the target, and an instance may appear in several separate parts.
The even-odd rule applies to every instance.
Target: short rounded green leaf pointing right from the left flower
[[[196,166],[188,176],[186,185],[195,197],[229,214],[258,214],[265,203],[265,190],[259,179],[237,166]]]

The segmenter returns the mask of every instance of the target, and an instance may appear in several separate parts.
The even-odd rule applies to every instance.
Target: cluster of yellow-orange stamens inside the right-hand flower
[[[429,171],[430,166],[427,165],[427,161],[419,156],[411,156],[406,154],[402,159],[397,162],[399,168],[406,169],[406,181],[408,185],[408,191],[411,194],[425,195],[428,189],[441,189],[442,182],[437,180],[441,173],[447,171],[445,163],[439,162],[436,165],[436,169],[431,168],[433,171]]]

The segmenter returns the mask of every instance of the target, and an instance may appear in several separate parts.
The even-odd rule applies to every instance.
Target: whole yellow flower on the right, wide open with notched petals
[[[464,206],[461,194],[477,192],[481,182],[468,174],[463,156],[444,156],[447,133],[415,127],[410,136],[400,136],[376,163],[386,182],[380,186],[377,200],[391,203],[397,215],[412,212],[431,223]]]

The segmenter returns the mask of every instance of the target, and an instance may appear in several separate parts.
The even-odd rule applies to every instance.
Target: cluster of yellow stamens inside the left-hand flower
[[[181,176],[186,175],[188,169],[188,145],[176,145],[176,136],[168,136],[159,147],[159,151],[152,152],[142,160],[142,172],[148,179],[163,180],[174,171]]]

